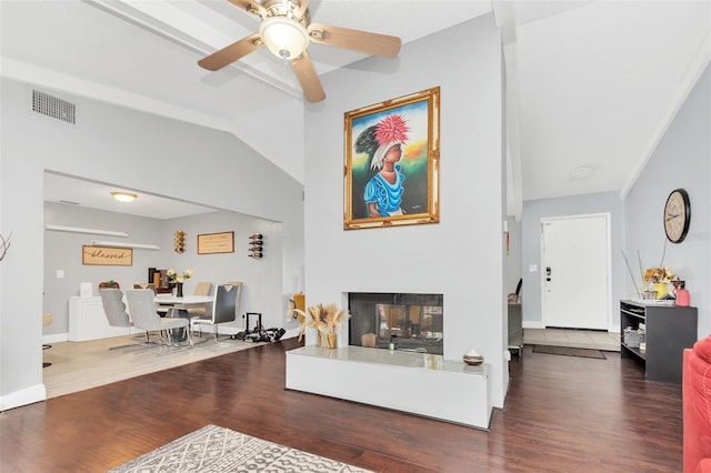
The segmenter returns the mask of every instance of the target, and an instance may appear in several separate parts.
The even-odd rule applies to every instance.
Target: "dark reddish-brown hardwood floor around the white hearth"
[[[681,388],[645,382],[619,353],[525,346],[510,364],[505,409],[483,432],[287,391],[284,351],[296,346],[283,340],[7,411],[0,471],[101,472],[210,423],[378,472],[681,471]]]

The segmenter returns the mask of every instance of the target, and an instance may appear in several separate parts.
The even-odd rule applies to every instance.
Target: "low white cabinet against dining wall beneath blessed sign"
[[[127,326],[111,326],[103,313],[101,298],[69,298],[69,341],[108,339],[129,335]]]

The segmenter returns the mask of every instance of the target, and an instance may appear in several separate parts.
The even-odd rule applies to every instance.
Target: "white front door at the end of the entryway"
[[[541,221],[541,289],[545,326],[608,330],[609,214]]]

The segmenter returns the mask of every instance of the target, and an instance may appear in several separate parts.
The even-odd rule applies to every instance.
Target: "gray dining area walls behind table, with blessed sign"
[[[147,282],[148,268],[172,268],[182,272],[193,270],[193,278],[186,283],[187,294],[194,291],[200,281],[213,285],[227,281],[242,281],[240,312],[261,312],[266,326],[296,329],[293,319],[287,320],[286,300],[274,298],[281,292],[281,240],[282,225],[236,212],[212,211],[206,214],[181,219],[157,220],[124,213],[103,212],[60,203],[44,203],[44,222],[69,227],[98,228],[126,231],[128,239],[101,238],[102,240],[127,240],[152,243],[160,250],[133,250],[131,266],[83,265],[81,248],[96,235],[66,233],[48,230],[44,233],[44,298],[43,312],[52,314],[52,324],[43,328],[43,342],[51,343],[68,339],[68,299],[79,295],[79,284],[91,282],[94,295],[100,281],[113,279],[121,288]],[[187,234],[186,252],[173,251],[173,235],[178,230]],[[234,252],[220,254],[197,254],[196,238],[199,233],[234,232]],[[248,256],[252,233],[264,235],[264,258]],[[63,271],[62,279],[57,271]]]

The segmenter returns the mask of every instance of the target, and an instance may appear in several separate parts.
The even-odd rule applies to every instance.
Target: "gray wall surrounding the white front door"
[[[524,328],[542,328],[541,314],[541,219],[549,217],[580,215],[589,213],[610,213],[611,258],[612,258],[612,326],[619,331],[620,314],[615,309],[623,292],[625,276],[622,246],[624,241],[624,204],[617,192],[573,195],[559,199],[539,199],[523,202],[522,222],[522,310]],[[530,272],[529,266],[535,264],[538,270]]]

